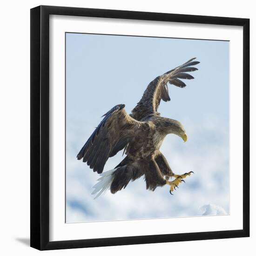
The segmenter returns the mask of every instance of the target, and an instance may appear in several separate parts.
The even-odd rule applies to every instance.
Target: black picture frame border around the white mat
[[[243,229],[49,242],[49,15],[243,27]],[[39,6],[31,9],[31,247],[39,250],[249,236],[249,19]]]

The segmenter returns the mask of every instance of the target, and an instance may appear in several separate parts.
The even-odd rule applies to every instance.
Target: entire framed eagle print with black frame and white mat
[[[245,236],[249,19],[31,9],[31,246]]]

